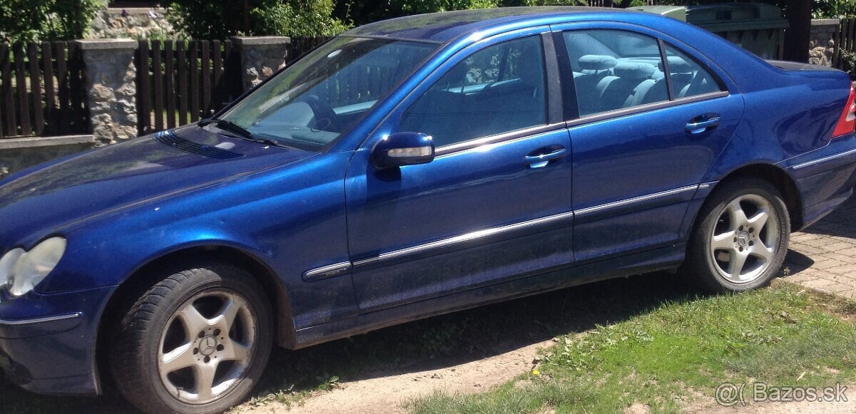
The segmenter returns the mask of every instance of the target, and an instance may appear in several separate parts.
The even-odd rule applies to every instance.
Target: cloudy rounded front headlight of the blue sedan
[[[12,296],[18,297],[33,290],[51,273],[65,252],[65,239],[52,237],[31,251],[15,249],[0,258],[0,287],[9,288]],[[4,283],[3,283],[4,282]]]

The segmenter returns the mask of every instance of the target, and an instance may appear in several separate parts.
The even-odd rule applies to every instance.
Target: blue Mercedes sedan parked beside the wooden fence
[[[762,287],[853,192],[854,96],[643,13],[357,27],[211,119],[0,181],[0,366],[218,412],[274,345],[660,269]]]

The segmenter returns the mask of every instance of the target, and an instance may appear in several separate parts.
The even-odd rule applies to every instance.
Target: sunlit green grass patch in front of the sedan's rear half
[[[682,412],[723,381],[824,387],[856,378],[853,305],[788,283],[669,299],[642,315],[557,336],[536,370],[486,393],[433,395],[413,413]],[[536,375],[537,374],[537,375]]]

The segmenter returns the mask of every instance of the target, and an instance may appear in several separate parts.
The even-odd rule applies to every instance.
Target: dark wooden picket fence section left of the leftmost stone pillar
[[[77,44],[0,44],[0,138],[89,131]]]

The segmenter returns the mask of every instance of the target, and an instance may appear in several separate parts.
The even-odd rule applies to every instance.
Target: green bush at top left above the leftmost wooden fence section
[[[83,38],[101,0],[2,0],[0,41]]]

